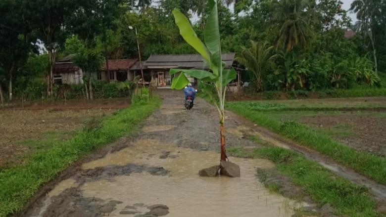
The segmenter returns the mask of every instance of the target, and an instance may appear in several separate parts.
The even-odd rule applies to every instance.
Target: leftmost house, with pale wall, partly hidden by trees
[[[71,61],[74,56],[75,54],[70,54],[55,62],[52,69],[54,84],[83,84],[82,69]]]

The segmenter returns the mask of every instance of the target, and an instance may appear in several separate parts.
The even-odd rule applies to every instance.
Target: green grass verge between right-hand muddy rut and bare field
[[[285,102],[232,102],[227,104],[227,109],[273,132],[282,134],[304,146],[308,146],[334,159],[339,164],[354,169],[359,174],[363,174],[379,183],[386,184],[386,158],[348,147],[333,139],[328,133],[322,130],[312,129],[294,120],[283,120],[282,118],[278,118],[280,115],[277,113],[275,116],[271,114],[274,113],[275,110],[286,113],[298,108],[301,113],[302,111],[315,111],[317,109],[333,110],[339,107],[345,108],[347,105],[328,106],[328,104],[326,104],[323,106],[311,104],[311,106],[305,106],[304,104],[302,105],[301,102],[294,104],[296,105],[290,105]],[[378,106],[385,108],[385,105]]]

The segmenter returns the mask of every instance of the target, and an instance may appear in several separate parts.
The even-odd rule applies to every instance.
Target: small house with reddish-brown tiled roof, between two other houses
[[[134,79],[135,71],[131,71],[130,68],[135,65],[137,59],[109,59],[107,62],[109,74],[107,74],[106,62],[104,62],[97,74],[97,80],[123,82]]]

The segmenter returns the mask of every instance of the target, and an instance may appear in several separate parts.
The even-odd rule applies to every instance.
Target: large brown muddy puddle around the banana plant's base
[[[119,152],[82,166],[84,171],[92,172],[100,168],[113,170],[114,166],[141,165],[136,171],[126,170],[113,176],[101,173],[98,174],[101,178],[77,180],[76,188],[83,198],[93,198],[94,204],[95,201],[113,203],[108,216],[114,217],[290,217],[293,209],[305,205],[269,193],[258,181],[257,169],[275,167],[268,160],[231,158],[241,167],[240,178],[198,176],[200,169],[218,164],[218,158],[219,154],[213,151],[194,151],[159,140],[140,139]],[[138,171],[141,168],[143,172]],[[154,175],[146,168],[162,168],[167,173]],[[50,196],[68,191],[76,183],[74,179],[59,183],[48,194],[48,203]],[[158,213],[151,215],[149,211]]]

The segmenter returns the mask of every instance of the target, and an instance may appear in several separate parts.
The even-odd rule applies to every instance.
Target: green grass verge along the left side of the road
[[[124,135],[134,135],[141,123],[159,108],[160,98],[134,103],[102,120],[91,120],[71,139],[32,154],[26,165],[0,173],[0,217],[20,211],[38,189],[83,156]]]

